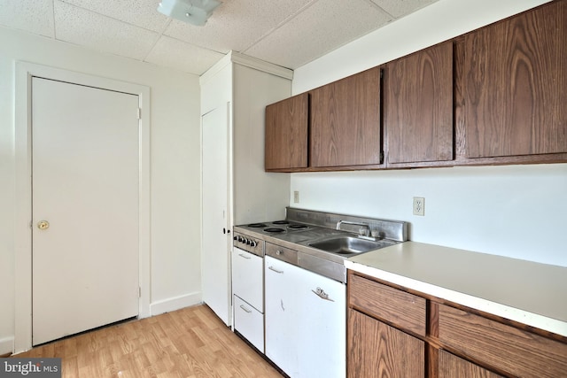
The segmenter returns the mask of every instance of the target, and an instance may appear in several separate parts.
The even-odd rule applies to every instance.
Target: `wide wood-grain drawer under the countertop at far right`
[[[567,344],[447,305],[439,305],[439,341],[509,374],[558,377],[567,372]]]

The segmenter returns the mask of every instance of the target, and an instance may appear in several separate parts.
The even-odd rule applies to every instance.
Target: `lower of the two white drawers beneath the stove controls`
[[[237,296],[234,296],[234,328],[264,352],[264,315]]]

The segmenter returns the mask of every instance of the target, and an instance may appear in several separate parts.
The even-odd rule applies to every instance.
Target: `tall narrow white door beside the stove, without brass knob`
[[[229,106],[229,104],[227,104]],[[203,115],[203,302],[231,323],[228,107]]]

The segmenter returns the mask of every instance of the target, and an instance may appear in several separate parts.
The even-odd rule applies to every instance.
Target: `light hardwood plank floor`
[[[100,328],[13,357],[59,357],[63,377],[276,377],[206,305]]]

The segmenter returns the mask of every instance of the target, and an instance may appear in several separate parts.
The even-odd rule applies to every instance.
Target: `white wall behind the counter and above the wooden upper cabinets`
[[[540,0],[440,0],[302,66],[298,94],[522,12]],[[567,266],[567,165],[291,174],[311,210],[411,223],[411,240]],[[425,197],[425,216],[412,198]],[[503,266],[502,268],[505,268]]]

